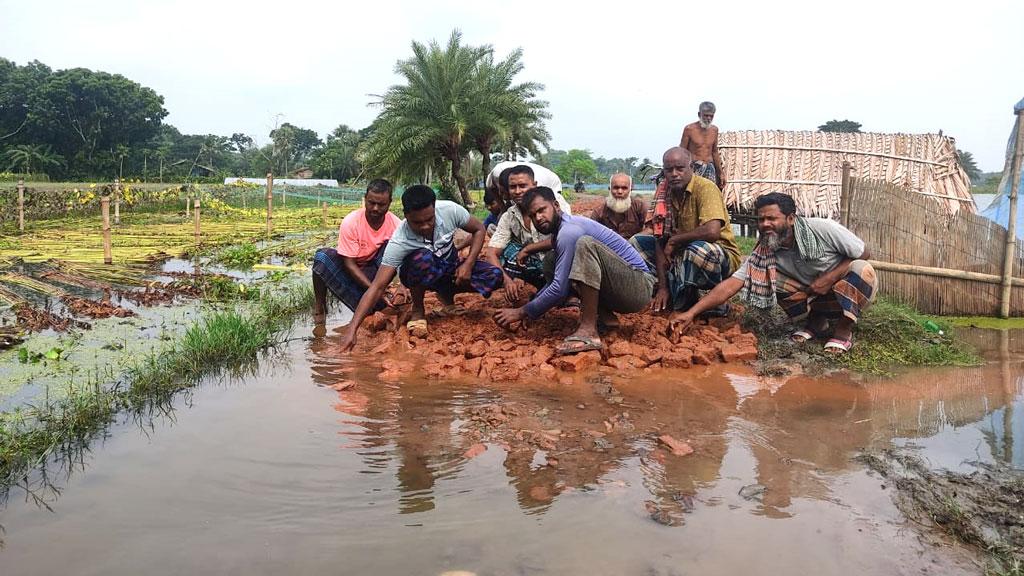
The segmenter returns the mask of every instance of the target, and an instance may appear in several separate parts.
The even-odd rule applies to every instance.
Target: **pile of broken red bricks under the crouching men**
[[[602,352],[556,356],[555,347],[575,330],[579,312],[553,310],[540,321],[510,332],[492,318],[505,306],[501,293],[490,299],[460,295],[459,304],[458,314],[428,318],[426,338],[411,336],[398,317],[378,313],[360,327],[356,349],[391,357],[382,363],[379,377],[385,380],[401,378],[416,364],[429,377],[513,381],[601,367],[608,367],[604,371],[651,371],[744,362],[758,356],[757,337],[742,332],[734,321],[718,319],[673,339],[668,335],[668,318],[649,314],[621,316],[621,326],[602,336]],[[439,302],[428,295],[427,310],[439,308]]]

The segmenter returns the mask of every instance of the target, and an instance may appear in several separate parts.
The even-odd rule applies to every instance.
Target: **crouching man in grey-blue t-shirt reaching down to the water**
[[[342,351],[348,352],[355,346],[359,324],[373,312],[374,303],[395,274],[413,296],[412,316],[406,327],[411,335],[421,337],[427,335],[427,316],[423,307],[427,290],[436,292],[441,303],[451,306],[459,292],[473,291],[487,297],[502,286],[501,269],[477,260],[485,232],[480,220],[465,208],[455,202],[437,200],[434,191],[423,184],[406,189],[401,207],[406,219],[391,235],[381,257],[380,270],[355,306],[342,340]],[[455,249],[456,230],[472,235],[469,255],[463,260]]]

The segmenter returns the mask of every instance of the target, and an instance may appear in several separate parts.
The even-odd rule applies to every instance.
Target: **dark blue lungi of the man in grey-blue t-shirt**
[[[422,286],[442,296],[455,297],[455,271],[463,261],[465,260],[460,260],[455,250],[447,256],[437,256],[426,248],[420,248],[401,261],[398,279],[408,288]],[[502,287],[502,278],[501,269],[489,262],[476,260],[469,286],[474,292],[488,297]]]

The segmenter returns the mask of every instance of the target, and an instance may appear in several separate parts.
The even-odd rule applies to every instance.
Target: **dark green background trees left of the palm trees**
[[[340,180],[359,173],[355,149],[366,129],[340,125],[322,140],[286,122],[258,146],[241,132],[182,134],[163,122],[167,114],[163,96],[121,75],[0,58],[0,170],[152,180],[288,174],[304,166]]]

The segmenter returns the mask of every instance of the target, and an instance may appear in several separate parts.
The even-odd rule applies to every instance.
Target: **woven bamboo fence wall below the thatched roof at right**
[[[926,196],[880,180],[853,178],[850,230],[864,240],[871,258],[931,268],[1002,274],[1007,231],[979,214],[950,216]],[[1017,242],[1015,275],[1022,276],[1024,245]],[[880,293],[927,314],[993,316],[1001,288],[972,280],[879,271]],[[1024,286],[1014,287],[1011,316],[1024,316]]]

